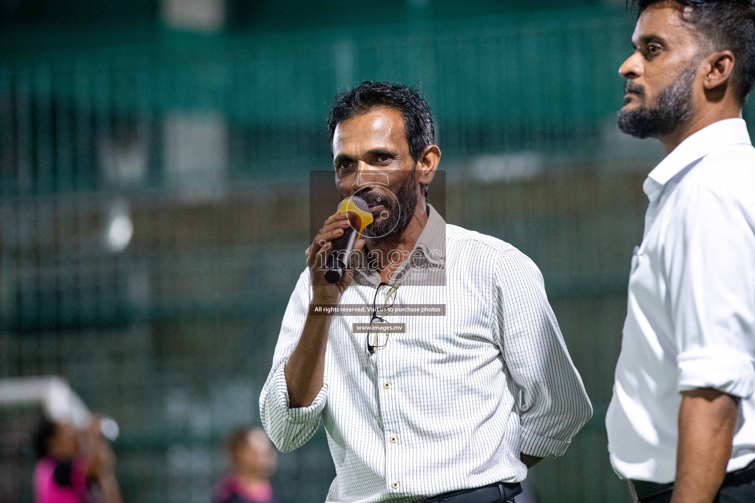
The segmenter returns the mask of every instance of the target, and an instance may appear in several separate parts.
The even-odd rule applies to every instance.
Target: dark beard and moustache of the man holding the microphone
[[[383,204],[388,212],[388,217],[368,225],[362,232],[362,239],[368,243],[377,243],[384,238],[389,238],[403,232],[409,224],[411,217],[414,216],[414,210],[417,208],[417,179],[414,176],[414,170],[406,179],[403,186],[396,192],[396,200],[391,197],[377,195],[377,193],[368,191],[362,194],[357,192],[360,198],[364,199],[368,206],[377,206]],[[381,198],[381,201],[377,201]],[[382,213],[382,212],[381,212]]]

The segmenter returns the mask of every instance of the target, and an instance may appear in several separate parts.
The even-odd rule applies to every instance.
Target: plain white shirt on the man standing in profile
[[[643,186],[627,319],[606,416],[622,477],[676,472],[680,391],[741,397],[727,471],[755,459],[755,149],[741,119],[689,136]]]

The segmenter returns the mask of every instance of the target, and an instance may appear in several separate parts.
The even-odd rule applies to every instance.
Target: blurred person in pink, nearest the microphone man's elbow
[[[282,503],[270,477],[278,452],[262,428],[239,428],[228,437],[230,471],[213,491],[213,503]]]

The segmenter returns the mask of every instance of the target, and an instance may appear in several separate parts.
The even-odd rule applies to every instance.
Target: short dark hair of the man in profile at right
[[[665,0],[633,0],[642,13]],[[739,103],[755,85],[755,2],[753,0],[671,0],[689,8],[683,17],[710,43],[713,51],[732,51],[735,57],[732,83]]]

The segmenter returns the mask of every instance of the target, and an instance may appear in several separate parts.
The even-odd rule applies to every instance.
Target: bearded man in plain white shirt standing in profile
[[[619,127],[668,152],[649,173],[606,416],[643,503],[755,501],[755,82],[749,0],[640,0]]]

